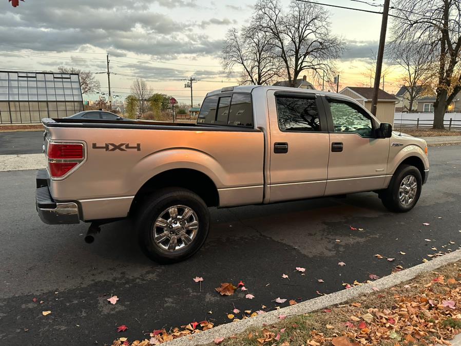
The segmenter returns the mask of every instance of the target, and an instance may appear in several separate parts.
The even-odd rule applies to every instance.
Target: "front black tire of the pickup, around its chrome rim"
[[[407,191],[400,195],[400,185],[407,177],[414,177],[416,182],[416,193],[414,195],[411,192]],[[412,178],[410,178],[412,180]],[[400,165],[395,171],[389,187],[387,189],[381,190],[379,197],[381,198],[382,204],[391,212],[396,213],[406,213],[409,212],[418,202],[419,196],[421,195],[422,187],[422,178],[421,172],[418,168],[411,165]],[[407,194],[408,193],[408,194]],[[405,195],[407,194],[408,203],[405,202]],[[404,198],[404,202],[400,200],[400,196]],[[412,197],[413,196],[413,197]],[[412,197],[411,201],[410,198]]]

